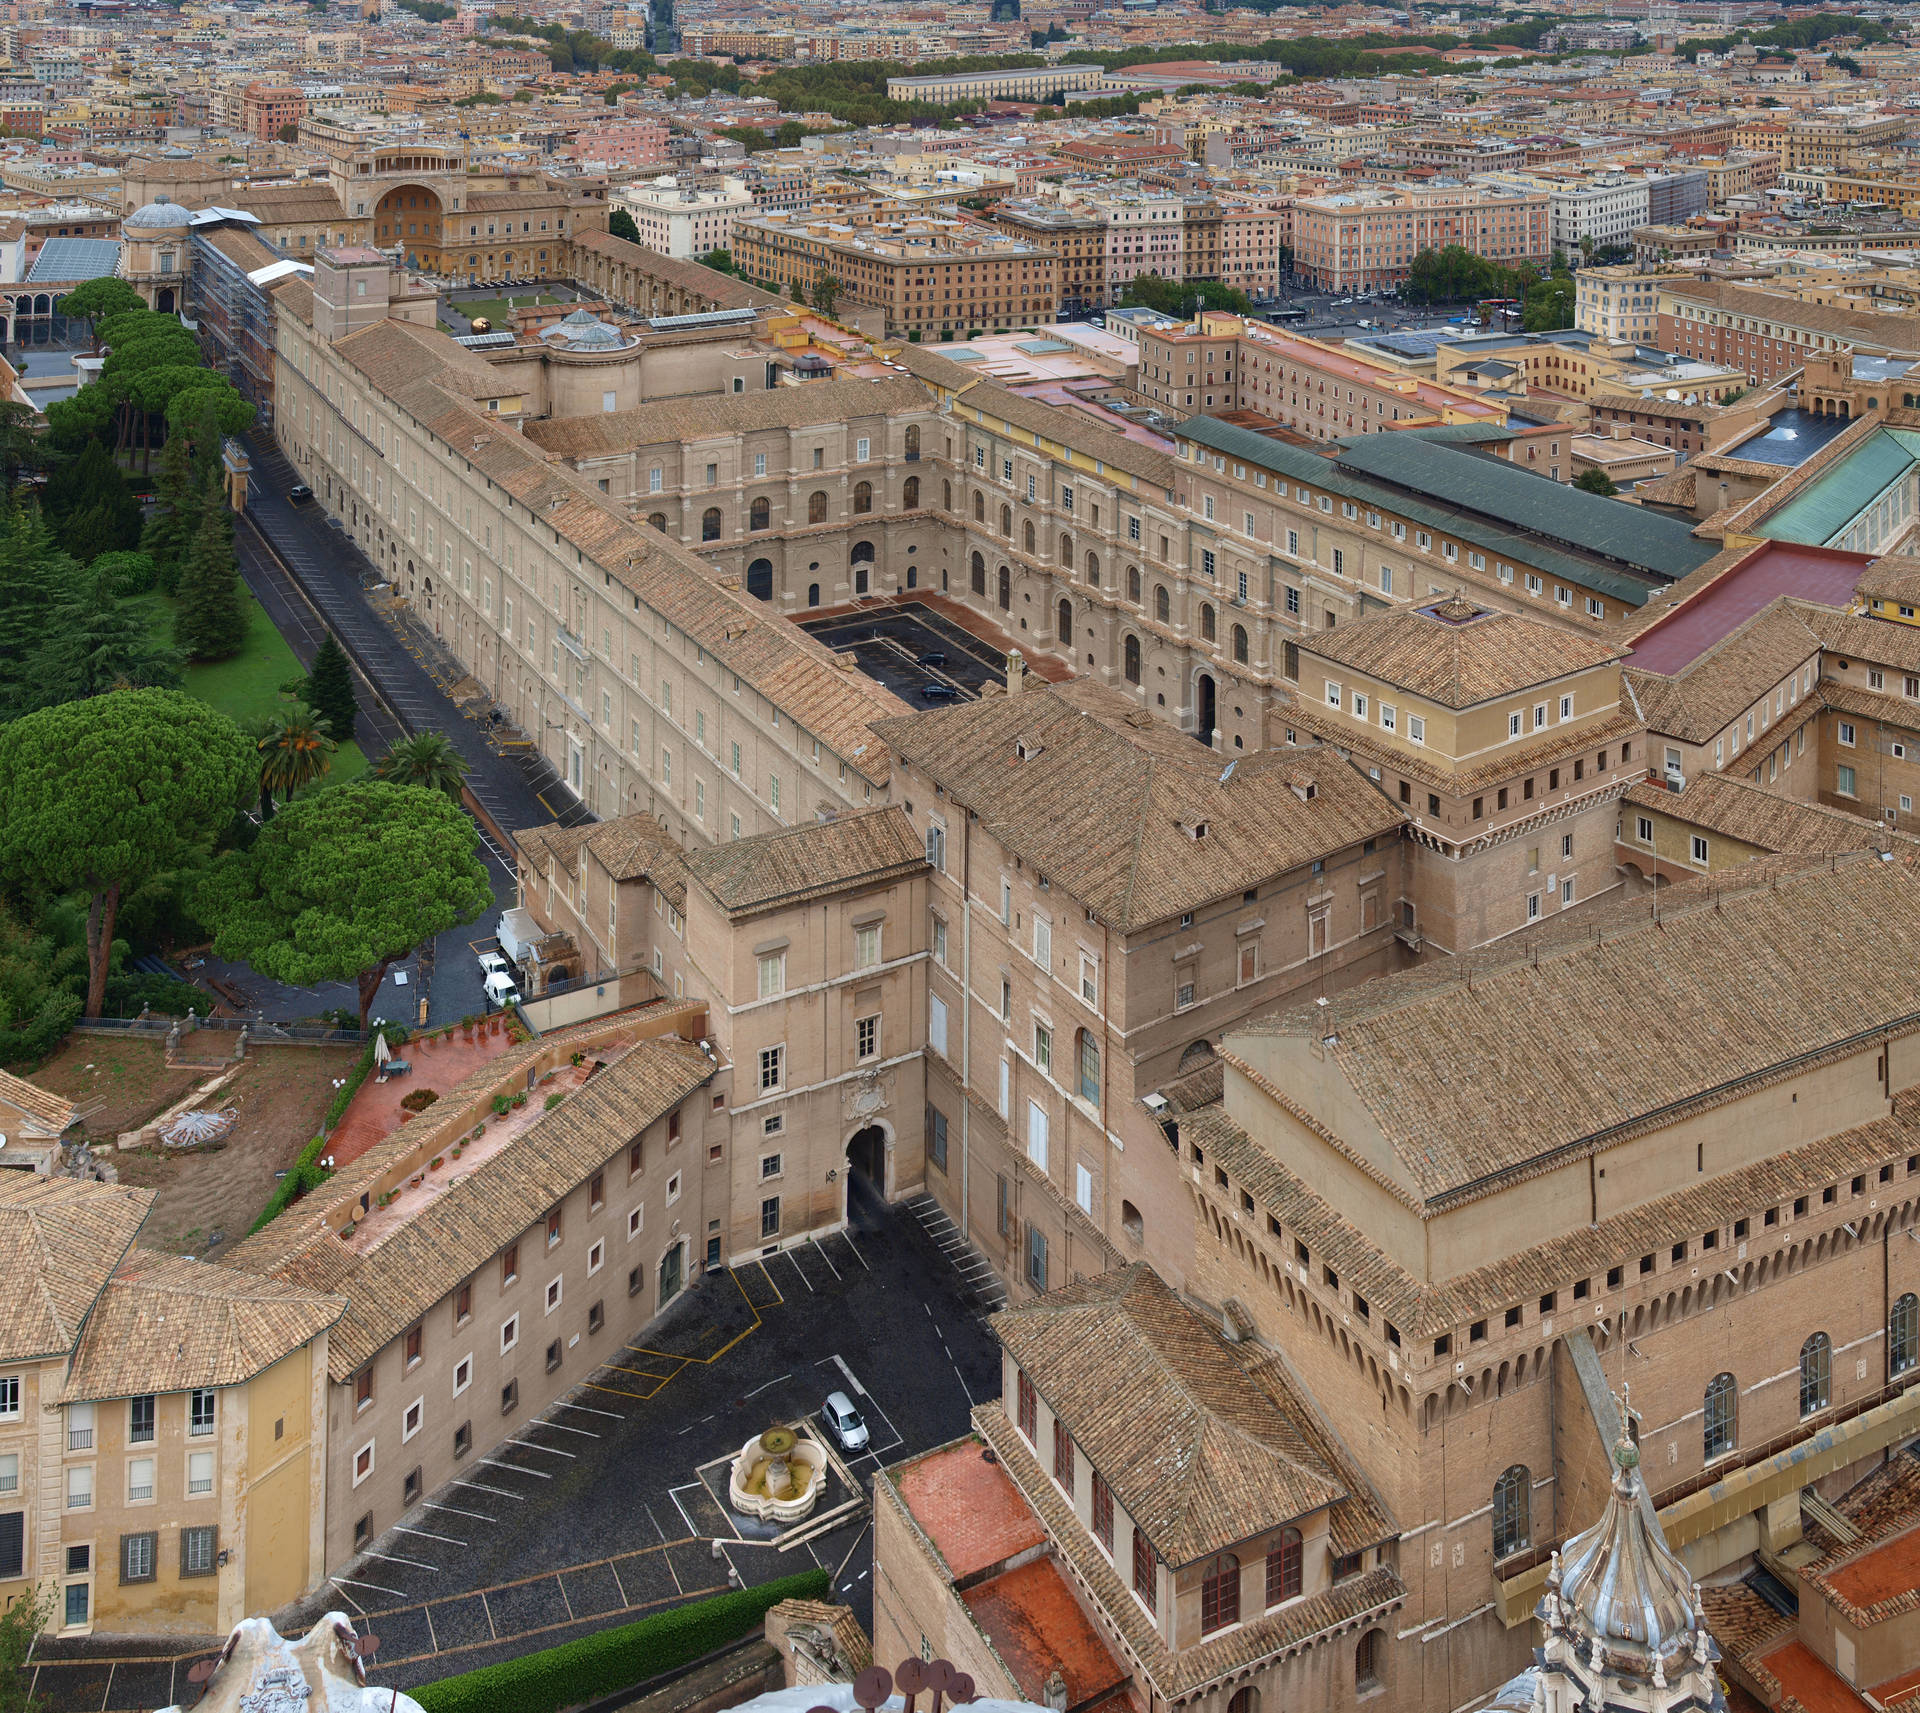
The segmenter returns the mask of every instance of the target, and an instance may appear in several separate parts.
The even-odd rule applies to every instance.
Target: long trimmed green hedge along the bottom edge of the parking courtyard
[[[781,1600],[826,1600],[826,1571],[803,1571],[693,1605],[657,1611],[541,1653],[447,1677],[411,1690],[426,1713],[557,1713],[691,1665],[756,1630]]]

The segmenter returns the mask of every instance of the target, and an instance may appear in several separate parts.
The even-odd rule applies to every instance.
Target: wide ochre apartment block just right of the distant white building
[[[839,302],[883,309],[887,332],[952,338],[973,328],[1033,326],[1060,307],[1052,250],[962,221],[854,227],[797,215],[743,215],[733,263],[776,290],[839,280]]]

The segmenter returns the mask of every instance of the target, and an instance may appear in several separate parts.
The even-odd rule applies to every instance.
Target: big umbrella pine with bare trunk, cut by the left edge
[[[123,893],[211,845],[253,778],[232,720],[177,689],[119,689],[0,726],[0,874],[84,891],[86,1014]]]

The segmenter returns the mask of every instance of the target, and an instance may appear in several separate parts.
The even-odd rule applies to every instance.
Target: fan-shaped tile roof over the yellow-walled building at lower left
[[[61,1402],[236,1387],[344,1310],[340,1296],[136,1248],[94,1304]]]

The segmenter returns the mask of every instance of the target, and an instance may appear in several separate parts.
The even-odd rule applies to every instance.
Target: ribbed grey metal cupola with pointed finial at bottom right
[[[1622,1438],[1613,1465],[1607,1508],[1567,1542],[1548,1588],[1557,1592],[1561,1619],[1582,1652],[1603,1650],[1615,1671],[1665,1678],[1695,1650],[1697,1590],[1659,1525],[1647,1521],[1640,1446]]]

